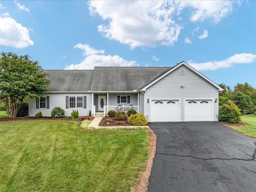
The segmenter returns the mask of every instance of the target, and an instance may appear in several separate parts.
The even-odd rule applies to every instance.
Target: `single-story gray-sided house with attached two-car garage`
[[[185,62],[173,67],[95,67],[94,70],[45,70],[49,92],[29,98],[29,116],[54,107],[70,116],[133,108],[148,122],[218,121],[223,89]]]

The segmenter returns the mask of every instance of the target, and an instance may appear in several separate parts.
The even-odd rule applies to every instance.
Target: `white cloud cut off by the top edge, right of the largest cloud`
[[[179,1],[181,8],[192,7],[194,10],[191,13],[190,20],[192,22],[204,21],[210,19],[214,24],[229,14],[233,10],[233,1]]]

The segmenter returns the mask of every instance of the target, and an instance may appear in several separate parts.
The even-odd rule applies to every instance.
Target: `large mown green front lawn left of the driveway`
[[[0,191],[130,191],[147,159],[147,132],[79,123],[0,122]]]

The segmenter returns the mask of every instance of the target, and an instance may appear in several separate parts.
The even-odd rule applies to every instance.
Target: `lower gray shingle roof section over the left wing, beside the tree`
[[[93,70],[44,70],[49,74],[52,92],[88,91]]]

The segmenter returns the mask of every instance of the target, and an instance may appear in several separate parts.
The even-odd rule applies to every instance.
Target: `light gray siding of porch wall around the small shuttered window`
[[[118,106],[118,105],[138,105],[138,94],[137,93],[125,93],[124,96],[130,96],[130,103],[117,103],[117,96],[123,96],[122,93],[109,93],[108,102],[109,106]]]

